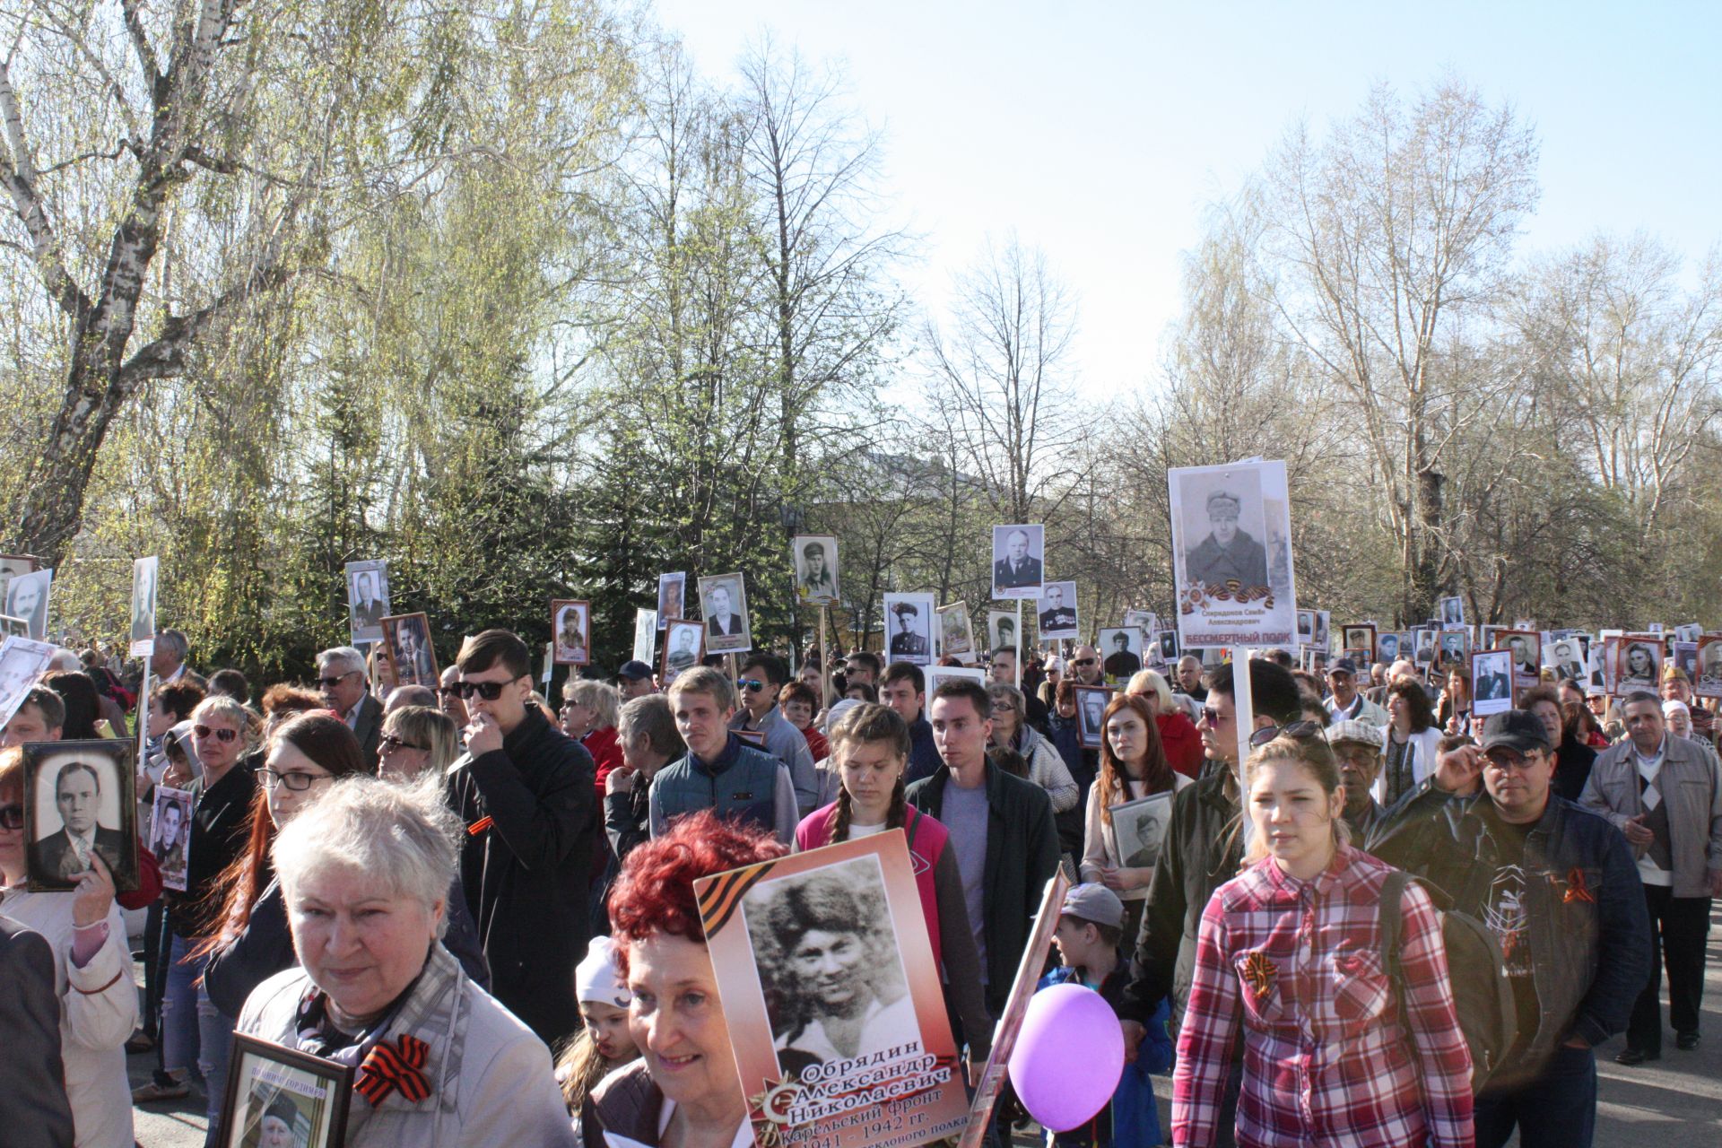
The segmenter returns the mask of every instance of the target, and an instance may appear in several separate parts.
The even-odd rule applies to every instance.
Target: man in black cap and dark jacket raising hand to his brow
[[[1632,852],[1608,821],[1557,797],[1552,776],[1541,719],[1491,714],[1483,745],[1441,754],[1367,845],[1500,941],[1519,1033],[1477,1093],[1477,1148],[1500,1148],[1514,1127],[1524,1148],[1586,1148],[1593,1048],[1626,1028],[1650,976]]]

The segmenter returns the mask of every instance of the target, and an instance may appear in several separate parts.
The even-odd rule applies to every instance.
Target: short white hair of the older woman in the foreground
[[[441,938],[460,828],[443,804],[441,773],[425,773],[413,785],[350,775],[288,821],[269,855],[288,898],[307,876],[332,867],[363,874],[427,909],[443,902]]]

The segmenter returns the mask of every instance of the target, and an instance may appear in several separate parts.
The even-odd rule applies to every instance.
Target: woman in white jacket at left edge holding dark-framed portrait
[[[22,752],[0,754],[0,807],[24,795]],[[114,878],[91,850],[90,871],[65,893],[24,888],[24,830],[0,819],[0,914],[24,924],[53,950],[60,998],[60,1059],[77,1148],[131,1148],[131,1086],[126,1038],[138,1024],[126,923],[114,904]],[[7,991],[0,988],[0,991]],[[5,1133],[0,1131],[0,1139]]]

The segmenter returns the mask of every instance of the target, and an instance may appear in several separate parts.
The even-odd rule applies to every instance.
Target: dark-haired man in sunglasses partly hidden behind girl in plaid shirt
[[[1304,697],[1297,678],[1285,666],[1252,659],[1250,697],[1254,702],[1252,728],[1278,731],[1298,721]],[[1212,900],[1214,890],[1238,873],[1243,861],[1243,828],[1238,797],[1238,711],[1233,704],[1233,663],[1224,663],[1209,676],[1207,706],[1202,709],[1202,749],[1207,766],[1195,785],[1186,785],[1173,797],[1171,819],[1161,843],[1161,859],[1154,866],[1149,885],[1149,904],[1142,914],[1142,929],[1135,938],[1135,959],[1130,964],[1130,986],[1118,1005],[1124,1022],[1124,1046],[1135,1055],[1145,1036],[1145,1024],[1161,1000],[1171,995],[1173,1026],[1183,1015],[1195,976],[1195,938],[1202,910]],[[1305,726],[1288,730],[1295,733]],[[1310,735],[1319,726],[1307,725]],[[1271,733],[1269,733],[1271,737]],[[1242,1083],[1242,1034],[1233,1055],[1231,1077],[1217,1115],[1216,1145],[1230,1148],[1236,1124],[1238,1086]]]

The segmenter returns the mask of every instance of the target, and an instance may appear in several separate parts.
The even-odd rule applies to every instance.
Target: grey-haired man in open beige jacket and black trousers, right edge
[[[1715,754],[1676,737],[1650,690],[1626,697],[1627,737],[1591,766],[1579,804],[1608,818],[1638,857],[1650,909],[1650,983],[1632,1005],[1620,1064],[1662,1057],[1662,966],[1674,1046],[1698,1046],[1710,898],[1722,897],[1722,773]]]

